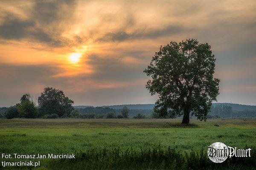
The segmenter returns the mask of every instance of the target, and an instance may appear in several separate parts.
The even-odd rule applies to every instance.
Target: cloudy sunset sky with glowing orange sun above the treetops
[[[58,88],[75,105],[154,103],[160,45],[208,42],[218,102],[256,105],[255,0],[1,0],[0,106]]]

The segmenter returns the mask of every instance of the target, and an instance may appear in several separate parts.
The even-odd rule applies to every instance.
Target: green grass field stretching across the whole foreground
[[[180,119],[0,119],[0,153],[76,153],[75,160],[44,159],[41,167],[35,168],[41,170],[255,168],[255,153],[250,158],[231,158],[215,164],[207,157],[207,146],[218,141],[227,146],[255,149],[256,119],[207,122],[192,119],[188,126],[180,122]]]

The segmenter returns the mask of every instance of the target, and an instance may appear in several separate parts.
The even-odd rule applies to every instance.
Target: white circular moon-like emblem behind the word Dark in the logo
[[[211,161],[221,163],[224,162],[229,156],[229,150],[226,144],[222,142],[214,142],[208,146],[207,155]]]

